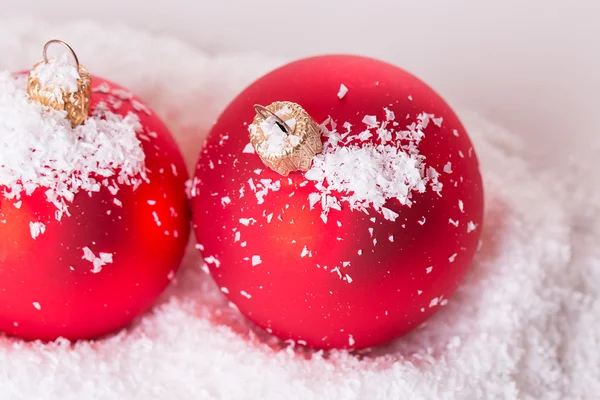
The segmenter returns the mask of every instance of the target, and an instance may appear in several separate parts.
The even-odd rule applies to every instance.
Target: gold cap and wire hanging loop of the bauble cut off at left
[[[76,72],[79,74],[75,90],[69,90],[60,85],[44,84],[40,75],[37,74],[37,69],[42,68],[42,64],[51,62],[48,59],[48,47],[51,44],[63,45],[73,56]],[[32,100],[47,107],[54,108],[58,111],[66,111],[67,119],[71,121],[71,126],[75,127],[83,124],[90,114],[90,103],[92,98],[92,77],[90,73],[83,65],[79,64],[79,59],[71,46],[62,40],[54,39],[47,42],[44,45],[42,55],[44,60],[35,64],[33,68],[31,68],[31,71],[29,71],[27,94]],[[73,79],[73,76],[70,78]]]

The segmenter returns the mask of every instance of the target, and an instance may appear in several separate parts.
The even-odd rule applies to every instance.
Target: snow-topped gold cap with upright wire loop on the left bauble
[[[61,64],[57,60],[49,60],[48,46],[53,43],[65,46],[73,56],[75,65]],[[58,111],[66,111],[67,119],[75,127],[85,122],[90,114],[92,98],[92,77],[83,65],[79,64],[77,55],[62,40],[51,40],[44,45],[44,60],[35,64],[29,71],[27,94],[44,106]]]

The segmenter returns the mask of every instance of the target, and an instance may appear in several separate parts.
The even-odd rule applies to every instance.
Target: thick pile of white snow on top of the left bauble
[[[57,75],[65,77],[62,83],[46,77],[44,68],[38,73],[50,85],[70,89],[73,83],[69,73]],[[19,200],[44,188],[60,220],[79,191],[115,184],[135,188],[146,179],[136,137],[142,127],[135,114],[123,117],[99,104],[85,124],[73,128],[64,111],[32,101],[26,84],[25,76],[0,72],[0,193],[5,198]]]

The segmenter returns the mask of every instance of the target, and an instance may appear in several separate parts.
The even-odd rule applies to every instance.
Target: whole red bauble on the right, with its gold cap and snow
[[[323,149],[283,176],[273,169],[306,169],[320,151],[302,112],[325,122]],[[483,214],[478,161],[449,105],[356,56],[293,62],[244,90],[208,136],[192,195],[198,246],[229,300],[323,349],[385,343],[444,306]]]

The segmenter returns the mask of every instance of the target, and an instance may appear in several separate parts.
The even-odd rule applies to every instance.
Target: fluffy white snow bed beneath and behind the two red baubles
[[[209,55],[123,26],[0,19],[0,32],[6,70],[28,69],[46,40],[69,42],[94,74],[149,102],[190,168],[233,96],[286,61]],[[424,327],[361,356],[287,347],[227,307],[190,246],[176,284],[110,338],[0,338],[0,399],[597,398],[600,135],[574,123],[565,138],[581,145],[532,156],[535,126],[511,132],[454,106],[482,163],[484,242]]]

